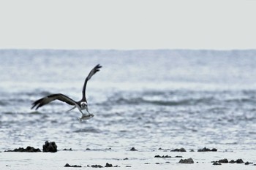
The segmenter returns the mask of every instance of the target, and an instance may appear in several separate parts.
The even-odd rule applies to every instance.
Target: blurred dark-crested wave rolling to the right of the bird
[[[255,91],[254,91],[255,93]],[[129,93],[115,93],[109,96],[102,105],[140,105],[151,104],[157,106],[193,106],[193,105],[226,105],[256,103],[252,93],[241,91],[143,91]],[[101,105],[99,104],[99,105]]]

